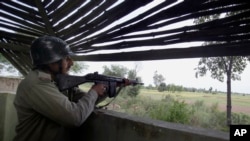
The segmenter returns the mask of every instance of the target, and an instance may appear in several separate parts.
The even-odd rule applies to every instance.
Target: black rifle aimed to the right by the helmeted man
[[[126,85],[143,85],[143,83],[138,82],[137,79],[127,79]],[[98,74],[98,72],[89,73],[84,76],[74,76],[74,75],[66,75],[66,74],[58,74],[56,76],[56,83],[60,91],[64,91],[73,87],[76,87],[80,84],[94,82],[94,83],[102,83],[107,86],[106,92],[108,96],[115,97],[120,90],[116,90],[116,87],[120,88],[125,86],[125,78],[114,77],[114,76],[106,76]]]

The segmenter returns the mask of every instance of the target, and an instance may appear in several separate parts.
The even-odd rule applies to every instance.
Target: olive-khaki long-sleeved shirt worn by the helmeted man
[[[90,90],[77,102],[62,94],[49,74],[31,71],[19,84],[14,105],[18,115],[14,141],[67,141],[94,110],[98,98]]]

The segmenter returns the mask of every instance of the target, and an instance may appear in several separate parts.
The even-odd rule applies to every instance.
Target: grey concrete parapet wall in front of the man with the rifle
[[[229,133],[96,110],[76,137],[89,141],[229,141]]]

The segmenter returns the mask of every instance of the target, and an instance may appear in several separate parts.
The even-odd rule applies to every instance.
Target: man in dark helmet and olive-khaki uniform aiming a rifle
[[[94,109],[105,91],[103,84],[93,85],[87,93],[78,88],[60,92],[57,74],[67,74],[73,65],[69,46],[53,36],[42,36],[31,45],[34,68],[19,84],[14,105],[18,115],[14,141],[67,141],[70,130],[79,127]]]

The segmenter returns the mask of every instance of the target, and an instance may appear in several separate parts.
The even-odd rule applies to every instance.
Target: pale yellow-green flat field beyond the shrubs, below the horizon
[[[157,90],[141,89],[140,97],[149,97],[154,100],[161,100],[167,95],[174,97],[176,100],[184,101],[192,104],[196,101],[203,101],[205,105],[211,106],[218,104],[221,111],[226,111],[227,95],[226,94],[211,94],[197,92],[158,92]],[[250,115],[250,95],[232,94],[232,112],[244,113]]]

